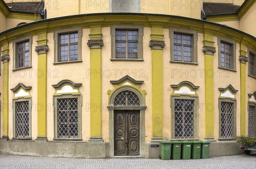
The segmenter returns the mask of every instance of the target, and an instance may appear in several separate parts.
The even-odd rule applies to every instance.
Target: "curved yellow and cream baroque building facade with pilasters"
[[[256,0],[213,1],[1,0],[0,153],[158,158],[161,140],[243,153]]]

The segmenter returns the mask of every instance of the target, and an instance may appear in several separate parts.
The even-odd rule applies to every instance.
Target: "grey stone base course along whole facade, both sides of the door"
[[[244,154],[244,150],[240,150],[236,141],[215,141],[210,143],[209,149],[210,157]],[[108,142],[0,140],[0,153],[41,157],[110,158]],[[145,143],[145,155],[140,157],[159,156],[160,143]]]

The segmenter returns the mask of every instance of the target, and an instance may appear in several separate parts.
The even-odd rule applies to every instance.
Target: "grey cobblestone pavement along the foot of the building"
[[[0,169],[256,169],[256,153],[200,160],[81,159],[1,154]]]

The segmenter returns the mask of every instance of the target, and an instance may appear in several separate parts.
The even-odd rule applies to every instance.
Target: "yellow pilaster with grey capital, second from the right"
[[[212,32],[204,32],[205,139],[214,139],[213,55],[216,52]]]

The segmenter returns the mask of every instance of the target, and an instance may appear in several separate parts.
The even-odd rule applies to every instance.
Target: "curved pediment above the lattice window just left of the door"
[[[74,83],[71,80],[61,80],[58,84],[52,85],[55,88],[54,95],[61,94],[72,94],[72,93],[81,93],[79,87],[81,83]]]

